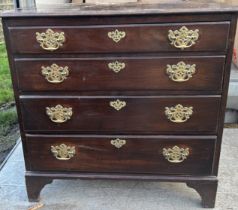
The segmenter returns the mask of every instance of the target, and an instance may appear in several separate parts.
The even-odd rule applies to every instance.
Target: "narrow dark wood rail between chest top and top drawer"
[[[15,13],[17,14],[17,13]],[[38,16],[32,17],[31,21],[29,18],[25,17],[4,17],[3,21],[7,21],[7,27],[38,27],[38,26],[97,26],[97,25],[128,25],[128,24],[159,24],[159,23],[194,23],[194,22],[230,22],[233,17],[232,13],[214,13],[213,15],[209,13],[202,14],[171,14],[171,15],[112,15],[112,16],[80,16],[76,18],[74,16],[69,16],[62,18],[61,16],[50,17]],[[7,30],[8,28],[6,28]]]

